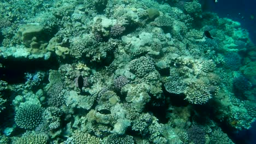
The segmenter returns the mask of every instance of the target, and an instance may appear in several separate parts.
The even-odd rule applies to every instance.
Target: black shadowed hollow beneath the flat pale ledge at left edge
[[[24,59],[24,58],[0,58],[1,63],[4,65],[0,69],[0,79],[8,83],[21,83],[25,82],[25,73],[35,73],[38,70],[46,71],[48,69],[56,69],[59,67],[54,57],[45,59]]]

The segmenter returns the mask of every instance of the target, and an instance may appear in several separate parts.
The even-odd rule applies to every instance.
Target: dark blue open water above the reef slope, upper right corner
[[[228,17],[240,22],[256,44],[256,0],[218,0],[217,3],[214,3],[214,0],[206,1],[207,9],[218,13],[219,17]],[[251,16],[254,16],[254,19]]]

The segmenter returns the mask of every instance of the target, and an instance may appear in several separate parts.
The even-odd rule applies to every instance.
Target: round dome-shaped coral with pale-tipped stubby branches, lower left
[[[42,122],[44,109],[36,104],[25,104],[15,114],[15,123],[23,129],[33,129]]]

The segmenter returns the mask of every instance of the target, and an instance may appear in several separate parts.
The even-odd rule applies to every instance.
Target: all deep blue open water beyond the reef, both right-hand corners
[[[249,37],[256,45],[256,0],[202,0],[203,9],[217,13],[219,17],[228,17],[241,23],[249,32]],[[251,19],[251,15],[254,19]],[[255,48],[256,49],[256,48]],[[256,122],[249,130],[232,131],[229,136],[235,143],[256,143]]]

